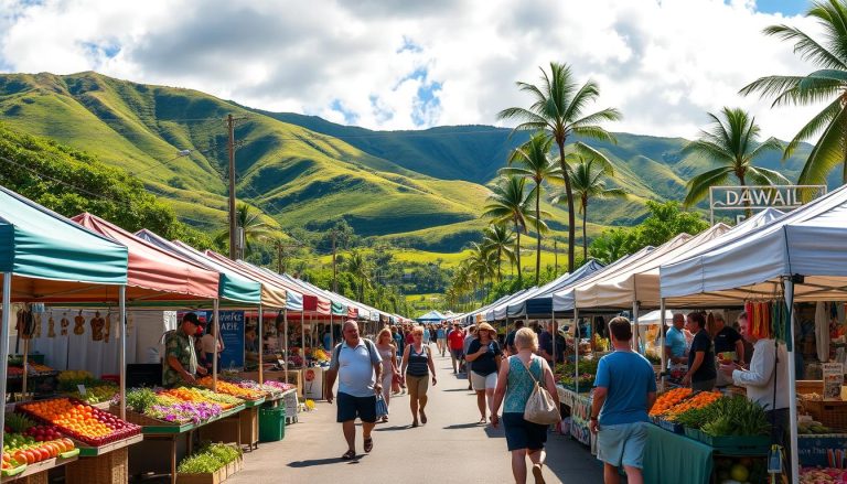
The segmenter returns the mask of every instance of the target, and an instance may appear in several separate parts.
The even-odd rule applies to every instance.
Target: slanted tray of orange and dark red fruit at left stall
[[[56,398],[18,406],[29,416],[51,423],[74,439],[99,447],[138,434],[141,428],[79,400]]]

